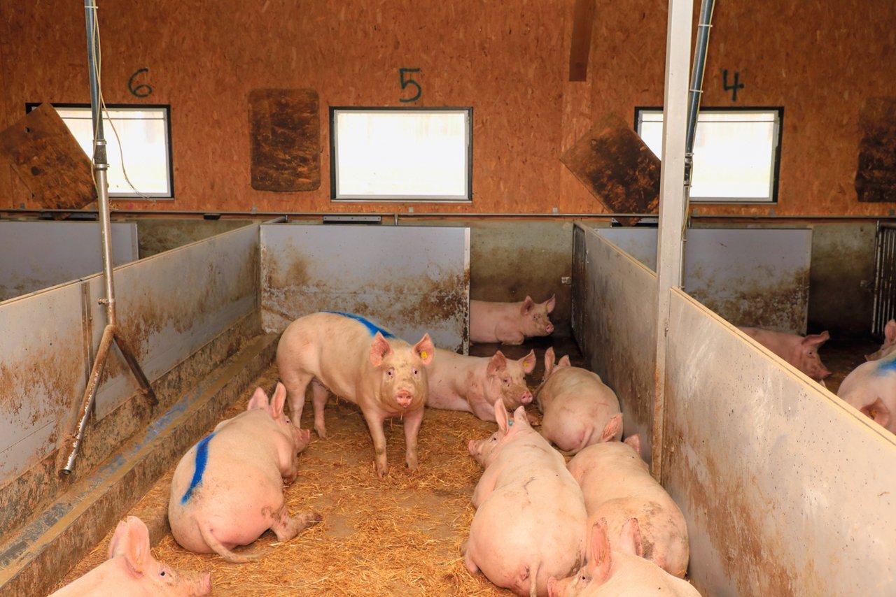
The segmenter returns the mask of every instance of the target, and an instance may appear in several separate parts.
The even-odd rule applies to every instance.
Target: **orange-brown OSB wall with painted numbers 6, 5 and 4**
[[[170,104],[176,199],[117,209],[260,212],[602,213],[560,156],[609,112],[633,122],[659,106],[666,0],[595,0],[587,81],[569,82],[575,0],[99,0],[107,103]],[[694,13],[699,7],[694,2]],[[859,202],[859,121],[867,98],[896,96],[892,0],[719,2],[704,106],[783,106],[780,202],[701,213],[888,216]],[[82,4],[0,2],[0,129],[25,102],[89,103]],[[330,202],[330,106],[399,107],[399,69],[418,68],[414,106],[474,107],[469,204]],[[151,86],[137,98],[128,81]],[[737,77],[737,100],[725,89]],[[256,191],[248,98],[317,90],[320,188]],[[107,132],[108,133],[108,132]],[[109,134],[109,133],[108,133]],[[0,209],[37,207],[0,167]]]

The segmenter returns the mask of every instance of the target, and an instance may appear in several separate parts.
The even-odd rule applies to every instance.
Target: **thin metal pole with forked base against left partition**
[[[84,397],[79,409],[77,431],[72,439],[72,451],[68,456],[65,468],[60,471],[61,476],[72,473],[74,459],[78,456],[81,448],[81,442],[84,438],[84,431],[87,429],[87,422],[90,420],[90,413],[93,410],[93,402],[97,396],[97,388],[99,387],[99,377],[102,375],[106,366],[109,348],[115,341],[118,349],[125,357],[125,361],[130,366],[134,377],[137,379],[142,392],[150,400],[151,405],[158,404],[155,392],[150,387],[149,380],[143,374],[140,365],[134,358],[129,346],[126,345],[125,339],[118,330],[118,322],[115,310],[115,285],[112,276],[112,235],[111,222],[109,219],[109,195],[108,195],[108,161],[106,156],[106,139],[103,136],[103,115],[102,105],[99,96],[99,72],[98,72],[98,51],[99,38],[97,36],[97,4],[96,0],[84,1],[84,16],[87,23],[87,61],[88,72],[90,73],[90,114],[93,116],[93,175],[97,185],[97,203],[99,205],[99,235],[102,243],[103,256],[103,278],[106,286],[106,297],[99,299],[100,303],[106,305],[106,328],[103,329],[103,336],[99,341],[97,356],[90,369],[90,377],[87,380],[87,388],[84,388]]]

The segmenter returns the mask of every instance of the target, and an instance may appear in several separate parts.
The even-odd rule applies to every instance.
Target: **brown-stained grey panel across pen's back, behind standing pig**
[[[266,331],[316,311],[351,312],[416,343],[467,352],[470,229],[262,226]]]

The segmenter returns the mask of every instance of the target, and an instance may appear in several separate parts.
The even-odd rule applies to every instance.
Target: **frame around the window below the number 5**
[[[345,194],[338,192],[338,125],[337,115],[346,113],[436,113],[453,112],[464,114],[466,148],[464,151],[466,178],[464,195],[398,195],[395,193],[383,194]],[[331,106],[330,107],[330,200],[333,202],[401,202],[401,203],[471,203],[473,200],[473,107],[364,107],[364,106]]]

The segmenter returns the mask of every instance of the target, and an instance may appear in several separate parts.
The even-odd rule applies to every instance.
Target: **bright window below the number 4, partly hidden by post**
[[[701,108],[694,137],[690,200],[754,203],[778,200],[781,120],[771,108]],[[636,131],[660,156],[662,108],[635,108]]]

